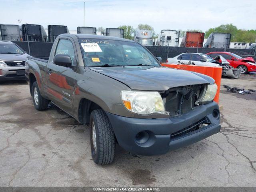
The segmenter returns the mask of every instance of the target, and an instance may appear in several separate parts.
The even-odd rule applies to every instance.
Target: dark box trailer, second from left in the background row
[[[24,41],[47,42],[47,34],[42,25],[22,24],[21,28]]]

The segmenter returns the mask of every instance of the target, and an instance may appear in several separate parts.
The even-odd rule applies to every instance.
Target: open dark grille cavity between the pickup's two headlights
[[[165,100],[165,110],[172,116],[179,116],[196,107],[195,102],[200,98],[205,89],[204,84],[188,85],[171,88],[162,93]]]

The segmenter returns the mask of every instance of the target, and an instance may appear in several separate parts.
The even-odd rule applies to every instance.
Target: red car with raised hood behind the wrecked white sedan
[[[210,52],[207,54],[212,58],[221,55],[228,62],[230,62],[232,67],[240,68],[242,74],[246,74],[248,72],[256,72],[256,62],[252,57],[242,58],[230,52]]]

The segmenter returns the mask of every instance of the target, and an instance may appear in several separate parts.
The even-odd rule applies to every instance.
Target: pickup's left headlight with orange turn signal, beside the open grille
[[[126,91],[121,92],[124,106],[137,114],[164,114],[164,102],[158,92]]]

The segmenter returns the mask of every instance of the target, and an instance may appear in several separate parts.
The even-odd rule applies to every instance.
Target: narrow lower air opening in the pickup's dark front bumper
[[[170,139],[175,140],[176,138],[182,137],[184,134],[196,131],[200,128],[203,128],[205,126],[208,126],[210,123],[206,118],[202,118],[200,121],[193,123],[192,125],[183,128],[181,130],[178,130],[171,134]]]

